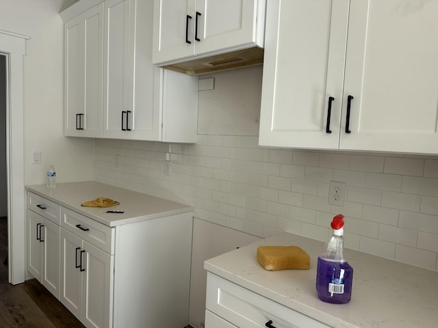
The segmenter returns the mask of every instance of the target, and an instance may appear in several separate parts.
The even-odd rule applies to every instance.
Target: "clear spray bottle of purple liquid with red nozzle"
[[[318,257],[316,291],[321,301],[344,304],[351,299],[353,269],[344,258],[344,215],[333,217],[333,236]]]

